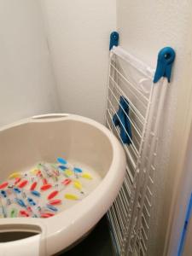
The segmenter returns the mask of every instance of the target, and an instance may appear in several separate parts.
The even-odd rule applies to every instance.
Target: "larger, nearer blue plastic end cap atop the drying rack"
[[[165,47],[160,50],[157,67],[154,73],[154,83],[157,83],[162,77],[167,78],[170,83],[172,75],[172,64],[175,60],[175,51],[172,47]]]

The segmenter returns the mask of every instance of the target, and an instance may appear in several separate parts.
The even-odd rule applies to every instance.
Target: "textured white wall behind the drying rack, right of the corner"
[[[161,48],[172,46],[177,52],[161,127],[164,137],[160,143],[157,188],[154,191],[154,203],[158,203],[155,204],[149,237],[148,255],[152,256],[163,255],[169,213],[174,203],[173,188],[177,173],[182,172],[186,147],[186,113],[191,101],[191,11],[192,2],[189,0],[117,0],[117,28],[122,47],[152,67],[156,65]]]

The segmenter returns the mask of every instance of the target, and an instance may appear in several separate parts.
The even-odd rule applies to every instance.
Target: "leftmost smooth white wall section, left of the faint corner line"
[[[0,0],[0,125],[58,110],[38,0]]]

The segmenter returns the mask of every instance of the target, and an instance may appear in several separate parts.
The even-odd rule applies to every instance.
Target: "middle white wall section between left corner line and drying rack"
[[[42,0],[61,110],[103,122],[115,0]]]

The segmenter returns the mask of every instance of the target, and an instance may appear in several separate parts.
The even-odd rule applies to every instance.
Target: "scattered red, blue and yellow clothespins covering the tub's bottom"
[[[89,166],[39,162],[0,183],[0,218],[49,218],[66,211],[96,188],[101,177]]]

